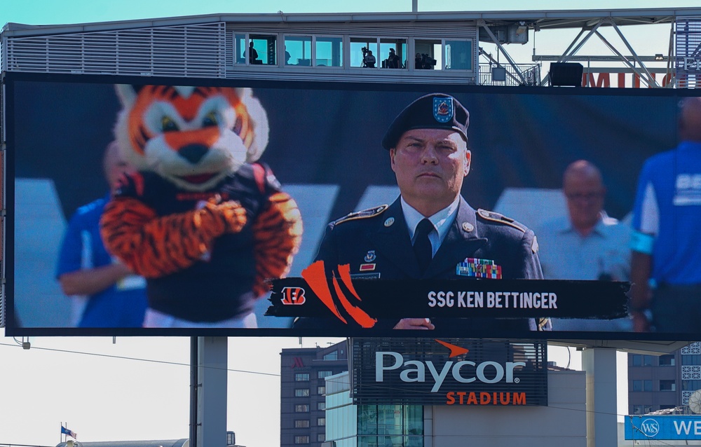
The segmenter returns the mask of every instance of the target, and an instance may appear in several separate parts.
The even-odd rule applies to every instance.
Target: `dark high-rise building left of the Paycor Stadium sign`
[[[327,376],[348,371],[348,343],[280,353],[280,447],[325,441]]]

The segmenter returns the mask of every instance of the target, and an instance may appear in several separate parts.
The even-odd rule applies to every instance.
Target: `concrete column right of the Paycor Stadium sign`
[[[615,357],[615,349],[609,348],[587,348],[582,355],[587,373],[587,447],[618,443]]]

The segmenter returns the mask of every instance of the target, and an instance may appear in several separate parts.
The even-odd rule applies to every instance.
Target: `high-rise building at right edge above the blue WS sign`
[[[652,413],[686,406],[701,390],[701,342],[668,355],[628,355],[628,412]]]

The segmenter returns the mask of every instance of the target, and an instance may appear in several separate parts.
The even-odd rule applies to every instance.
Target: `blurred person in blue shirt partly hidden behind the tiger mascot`
[[[111,256],[100,237],[100,216],[119,177],[131,170],[116,142],[104,153],[104,174],[111,191],[83,205],[71,217],[60,249],[56,277],[73,299],[72,326],[140,327],[147,298],[144,278]]]

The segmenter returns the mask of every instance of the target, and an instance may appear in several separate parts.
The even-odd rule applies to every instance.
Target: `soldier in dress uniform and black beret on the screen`
[[[382,139],[400,197],[330,223],[317,260],[325,266],[349,264],[354,278],[470,279],[486,271],[493,278],[542,279],[533,232],[496,212],[473,209],[460,195],[470,172],[469,123],[468,110],[449,95],[433,93],[409,104]],[[299,319],[295,326],[341,324],[320,320]],[[456,335],[460,329],[529,331],[547,324],[527,318],[418,317],[381,319],[375,328]]]

